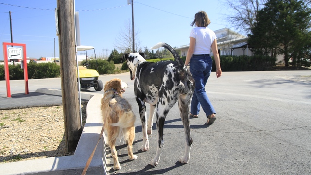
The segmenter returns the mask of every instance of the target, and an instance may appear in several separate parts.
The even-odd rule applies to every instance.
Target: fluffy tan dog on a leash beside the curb
[[[125,92],[126,83],[122,83],[121,79],[114,78],[108,81],[104,87],[104,97],[102,99],[103,120],[107,117],[105,130],[107,133],[108,144],[111,148],[113,158],[113,169],[120,170],[121,166],[118,160],[115,148],[118,136],[127,141],[127,151],[130,160],[135,160],[136,155],[133,154],[132,145],[135,138],[134,122],[136,116],[132,111],[131,105],[127,100],[122,98]]]

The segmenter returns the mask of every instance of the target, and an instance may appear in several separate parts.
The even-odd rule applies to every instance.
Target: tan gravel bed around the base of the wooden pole
[[[0,163],[73,154],[66,151],[63,106],[0,110]]]

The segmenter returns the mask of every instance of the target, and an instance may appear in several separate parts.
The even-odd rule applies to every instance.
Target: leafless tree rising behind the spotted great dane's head
[[[136,28],[136,27],[134,27]],[[136,28],[137,29],[137,28]],[[139,31],[135,31],[135,51],[140,50],[140,40],[138,38]],[[115,47],[124,53],[132,52],[132,44],[133,44],[133,35],[132,35],[132,22],[130,20],[126,21],[124,24],[124,28],[119,32],[118,37],[116,38]]]

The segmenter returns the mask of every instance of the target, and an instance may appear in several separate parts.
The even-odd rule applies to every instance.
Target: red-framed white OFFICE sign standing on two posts
[[[18,53],[18,50],[20,48],[16,48],[16,51],[14,48],[10,48],[12,50],[12,53],[8,53],[8,46],[20,46],[22,47],[22,53]],[[11,90],[10,90],[10,72],[9,72],[9,64],[8,59],[9,57],[14,56],[23,56],[23,63],[24,63],[24,79],[25,79],[25,94],[29,94],[28,91],[28,71],[27,71],[27,57],[26,57],[26,44],[19,44],[19,43],[3,43],[3,59],[4,59],[4,73],[5,73],[5,81],[6,81],[6,94],[7,97],[11,97]]]

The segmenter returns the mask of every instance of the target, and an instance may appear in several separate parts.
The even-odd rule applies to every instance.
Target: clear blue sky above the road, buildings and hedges
[[[141,48],[151,48],[158,42],[172,47],[189,44],[190,24],[200,10],[207,12],[210,29],[232,26],[224,19],[228,9],[220,0],[134,0],[133,4]],[[13,42],[26,44],[27,57],[54,57],[54,38],[58,57],[56,7],[57,0],[1,0],[0,42],[11,42],[11,11]],[[116,38],[125,30],[124,25],[132,19],[127,0],[75,0],[75,10],[79,12],[81,45],[94,46],[96,56],[109,56],[116,48]],[[2,44],[0,60],[3,60]]]

